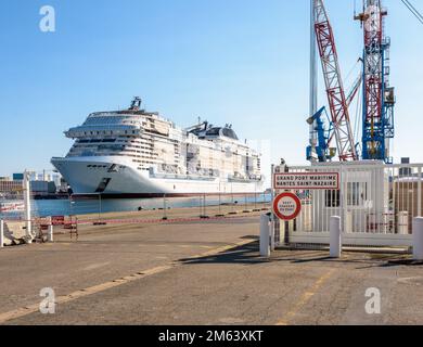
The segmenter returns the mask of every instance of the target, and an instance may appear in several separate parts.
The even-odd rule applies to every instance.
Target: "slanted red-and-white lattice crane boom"
[[[323,0],[315,0],[315,31],[322,63],[333,131],[341,162],[358,160],[332,25]]]

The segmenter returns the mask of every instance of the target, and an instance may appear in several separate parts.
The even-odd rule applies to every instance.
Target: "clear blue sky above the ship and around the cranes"
[[[44,4],[56,11],[55,33],[39,30]],[[423,26],[400,0],[384,4],[394,155],[423,162]],[[347,76],[362,48],[354,0],[326,7]],[[274,162],[306,164],[308,21],[308,0],[3,0],[0,176],[51,168],[72,144],[64,130],[133,95],[181,126],[231,123],[242,138],[270,140]]]

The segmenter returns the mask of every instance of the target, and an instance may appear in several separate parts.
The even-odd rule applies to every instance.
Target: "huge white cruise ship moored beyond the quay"
[[[125,111],[97,112],[65,131],[75,142],[51,159],[76,195],[119,197],[239,194],[264,191],[260,155],[232,126],[182,129],[134,98]]]

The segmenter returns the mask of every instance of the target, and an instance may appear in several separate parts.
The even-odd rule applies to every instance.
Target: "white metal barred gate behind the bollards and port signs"
[[[273,174],[338,172],[341,177],[339,190],[293,190],[302,201],[302,213],[294,221],[275,221],[275,239],[287,244],[329,244],[330,219],[339,216],[344,245],[411,246],[412,220],[423,216],[422,168],[423,164],[381,162],[274,167]]]

